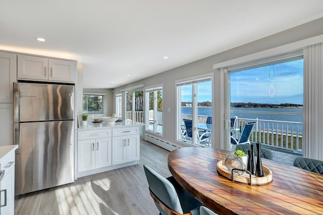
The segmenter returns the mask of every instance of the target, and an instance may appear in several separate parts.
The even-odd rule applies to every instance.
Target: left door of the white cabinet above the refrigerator
[[[48,58],[18,54],[17,78],[48,80]]]

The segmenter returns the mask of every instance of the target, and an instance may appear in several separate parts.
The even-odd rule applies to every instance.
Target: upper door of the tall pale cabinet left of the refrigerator
[[[0,52],[0,103],[13,103],[13,82],[17,79],[17,54]]]

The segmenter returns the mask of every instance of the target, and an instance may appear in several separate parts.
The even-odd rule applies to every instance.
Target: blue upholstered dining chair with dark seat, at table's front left
[[[191,194],[189,194],[171,176],[164,178],[147,165],[143,165],[149,184],[150,195],[153,198],[159,214],[199,214],[202,205]]]

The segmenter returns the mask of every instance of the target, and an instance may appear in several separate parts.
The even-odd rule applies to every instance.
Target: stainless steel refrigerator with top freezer
[[[14,83],[15,195],[74,182],[74,85]]]

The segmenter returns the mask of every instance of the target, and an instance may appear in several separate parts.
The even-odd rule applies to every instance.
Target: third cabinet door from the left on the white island
[[[112,140],[112,165],[127,162],[126,136],[116,136]]]

